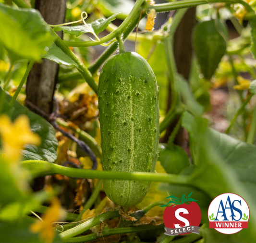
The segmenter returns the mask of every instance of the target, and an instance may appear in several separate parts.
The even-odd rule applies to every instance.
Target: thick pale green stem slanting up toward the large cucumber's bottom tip
[[[92,219],[88,219],[87,221],[85,221],[82,224],[79,224],[67,231],[60,233],[61,239],[67,240],[73,236],[76,236],[78,234],[81,234],[81,233],[91,229],[93,226],[95,226],[107,219],[112,219],[112,218],[119,217],[119,216],[120,216],[119,211],[111,211],[111,212],[99,214],[98,216],[96,216]]]

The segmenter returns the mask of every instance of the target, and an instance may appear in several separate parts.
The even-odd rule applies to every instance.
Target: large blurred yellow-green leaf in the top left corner
[[[39,61],[54,38],[35,9],[14,9],[0,3],[0,42],[12,61]]]

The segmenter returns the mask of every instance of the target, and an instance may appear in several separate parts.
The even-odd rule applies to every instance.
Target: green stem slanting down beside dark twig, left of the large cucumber
[[[59,118],[56,120],[56,122],[62,127],[74,130],[79,135],[79,138],[82,139],[85,142],[85,144],[87,144],[91,148],[95,155],[102,160],[101,148],[91,135],[87,134],[85,131],[82,131],[80,128],[73,129],[69,126],[67,122]]]

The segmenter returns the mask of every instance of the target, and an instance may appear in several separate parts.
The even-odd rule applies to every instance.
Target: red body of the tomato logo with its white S
[[[195,202],[172,205],[164,210],[164,224],[167,228],[177,229],[184,226],[199,226],[200,221],[201,211]]]

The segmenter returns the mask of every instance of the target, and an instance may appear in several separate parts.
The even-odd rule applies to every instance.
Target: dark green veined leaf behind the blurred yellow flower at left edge
[[[3,90],[0,88],[0,94]],[[10,118],[15,120],[19,115],[25,114],[30,120],[31,130],[41,137],[41,145],[39,147],[34,145],[26,145],[25,149],[22,150],[24,160],[46,160],[49,162],[54,162],[57,158],[57,147],[58,141],[55,137],[55,130],[52,125],[47,122],[42,117],[38,116],[34,112],[30,111],[18,101],[15,101],[12,110],[10,111],[10,101],[12,97],[6,94],[6,99],[4,102],[5,113],[7,113]]]

